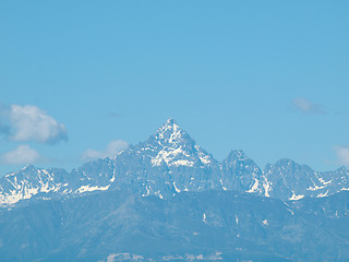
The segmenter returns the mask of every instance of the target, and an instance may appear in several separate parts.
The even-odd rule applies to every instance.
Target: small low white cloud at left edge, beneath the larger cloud
[[[33,164],[39,158],[39,154],[28,145],[19,145],[14,151],[10,151],[0,156],[2,164],[20,165]]]

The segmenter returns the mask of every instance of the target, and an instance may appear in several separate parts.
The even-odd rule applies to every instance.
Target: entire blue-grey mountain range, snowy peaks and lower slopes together
[[[0,178],[1,261],[349,261],[349,171],[216,160],[173,119],[68,172]]]

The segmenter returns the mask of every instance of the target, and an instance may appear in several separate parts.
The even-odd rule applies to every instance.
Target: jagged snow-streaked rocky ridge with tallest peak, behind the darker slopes
[[[287,201],[349,190],[349,171],[341,167],[317,172],[290,159],[262,170],[242,151],[232,151],[219,163],[168,119],[147,141],[111,159],[91,162],[71,172],[27,166],[2,177],[0,206],[98,190],[127,190],[160,199],[182,191],[232,190]]]

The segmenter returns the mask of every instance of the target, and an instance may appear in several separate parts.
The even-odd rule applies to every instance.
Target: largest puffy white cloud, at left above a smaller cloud
[[[0,131],[2,130],[10,140],[56,143],[68,139],[65,126],[36,106],[11,105],[2,106],[0,110]]]

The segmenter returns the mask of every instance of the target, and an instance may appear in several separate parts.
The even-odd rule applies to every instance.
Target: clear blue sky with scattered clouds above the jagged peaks
[[[0,172],[70,170],[169,117],[214,157],[349,166],[348,1],[2,1]]]

